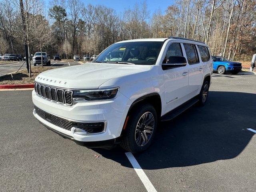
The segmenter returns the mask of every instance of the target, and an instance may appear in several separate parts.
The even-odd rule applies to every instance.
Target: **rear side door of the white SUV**
[[[188,61],[188,92],[190,98],[196,96],[201,90],[203,79],[203,65],[199,60],[198,50],[195,44],[183,44]]]

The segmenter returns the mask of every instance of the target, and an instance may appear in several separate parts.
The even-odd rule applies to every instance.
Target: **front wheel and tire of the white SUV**
[[[148,127],[145,126],[143,117],[146,118],[146,121],[150,121]],[[158,123],[157,120],[156,110],[152,105],[144,104],[136,107],[130,113],[130,118],[128,119],[128,124],[120,146],[124,150],[132,153],[146,150],[154,139]],[[139,128],[138,124],[141,124]],[[138,140],[136,140],[136,138],[138,138]]]

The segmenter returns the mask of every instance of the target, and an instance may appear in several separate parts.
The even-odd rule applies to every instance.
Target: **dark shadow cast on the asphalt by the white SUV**
[[[193,106],[160,124],[154,142],[134,155],[142,169],[192,166],[238,156],[256,129],[256,94],[210,91],[204,107]],[[102,156],[131,167],[119,147],[93,148]]]

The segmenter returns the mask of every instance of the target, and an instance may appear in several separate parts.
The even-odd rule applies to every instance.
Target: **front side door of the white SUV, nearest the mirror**
[[[162,63],[166,63],[170,56],[184,56],[180,43],[173,42],[168,45]],[[164,114],[180,106],[186,101],[188,93],[188,64],[183,67],[162,69],[164,74],[165,103]]]

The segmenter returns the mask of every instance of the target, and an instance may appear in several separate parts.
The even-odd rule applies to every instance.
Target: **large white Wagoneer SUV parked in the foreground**
[[[184,38],[112,44],[86,65],[42,72],[34,116],[48,129],[89,147],[120,144],[136,153],[152,143],[158,122],[196,102],[212,78],[208,46]]]

